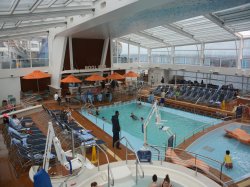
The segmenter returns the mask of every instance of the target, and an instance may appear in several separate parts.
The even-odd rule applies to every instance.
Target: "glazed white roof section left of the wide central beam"
[[[0,0],[0,38],[65,27],[67,17],[92,14],[96,0]]]

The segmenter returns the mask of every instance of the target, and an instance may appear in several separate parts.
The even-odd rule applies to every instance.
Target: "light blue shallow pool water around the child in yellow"
[[[227,170],[223,167],[223,173],[230,176],[234,181],[239,181],[250,176],[250,146],[234,138],[225,137],[224,129],[233,130],[235,128],[243,127],[239,123],[234,123],[216,129],[196,140],[187,150],[208,156],[220,162],[223,162],[226,150],[230,150],[233,169]],[[208,161],[204,161],[208,163]],[[208,164],[211,165],[211,163]],[[219,165],[212,165],[220,169]]]

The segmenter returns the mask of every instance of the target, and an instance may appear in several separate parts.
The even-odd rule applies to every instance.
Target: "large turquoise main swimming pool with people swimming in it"
[[[82,111],[82,114],[86,116],[93,123],[97,124],[100,128],[104,129],[108,134],[112,135],[111,117],[115,111],[118,110],[120,125],[121,125],[121,137],[126,136],[136,150],[139,150],[143,145],[144,134],[142,132],[142,122],[140,120],[133,120],[130,117],[133,112],[139,119],[143,117],[147,118],[152,105],[148,103],[142,103],[138,105],[135,101],[119,103],[112,106],[100,107],[100,115],[95,117],[91,114]],[[180,144],[184,137],[192,135],[192,132],[202,127],[205,124],[213,125],[221,122],[221,120],[196,115],[176,109],[160,107],[160,114],[162,120],[167,120],[164,126],[170,127],[171,131],[176,134],[176,144]],[[102,120],[102,117],[105,120]],[[166,132],[160,130],[155,124],[155,116],[150,120],[147,127],[147,141],[151,145],[166,146],[167,138],[170,136]]]

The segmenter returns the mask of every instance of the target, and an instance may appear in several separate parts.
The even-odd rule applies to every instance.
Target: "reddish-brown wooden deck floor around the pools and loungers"
[[[46,107],[48,107],[49,109],[64,109],[65,106],[58,106],[57,103],[53,102],[53,101],[49,101],[46,104]],[[72,106],[70,106],[72,107]],[[72,107],[73,108],[73,107]],[[108,157],[110,159],[110,162],[115,162],[115,161],[119,161],[124,160],[125,159],[125,148],[124,146],[122,146],[122,150],[121,151],[116,151],[117,157],[116,159],[113,157],[113,151],[114,149],[112,148],[112,137],[110,135],[108,135],[107,133],[105,133],[104,131],[102,131],[99,127],[97,127],[95,124],[93,124],[92,122],[90,122],[88,119],[86,119],[85,117],[83,117],[79,112],[74,111],[72,112],[72,116],[75,118],[75,120],[77,120],[79,122],[79,124],[81,124],[82,126],[84,126],[86,129],[91,129],[93,130],[93,134],[104,140],[106,142],[106,146],[107,146],[107,152]],[[45,111],[43,111],[42,113],[35,113],[31,116],[35,123],[39,126],[39,128],[44,132],[44,134],[46,134],[47,132],[47,123],[50,120],[49,115],[47,115],[47,113]],[[210,127],[208,129],[206,129],[206,131],[201,132],[197,135],[192,136],[191,138],[187,139],[184,143],[182,143],[181,145],[179,145],[179,148],[181,149],[185,149],[186,147],[188,147],[193,141],[195,141],[197,138],[199,138],[200,136],[204,135],[207,132],[210,132],[211,130],[221,127],[225,124],[227,124],[229,122],[223,122],[219,125]],[[46,125],[44,125],[46,124]],[[8,186],[8,187],[31,187],[33,186],[33,184],[31,183],[31,181],[28,178],[28,173],[23,174],[22,176],[20,176],[19,178],[16,178],[14,171],[12,169],[12,166],[10,165],[10,163],[8,162],[8,150],[5,147],[5,144],[3,143],[3,137],[2,137],[2,133],[0,134],[0,186]],[[100,156],[100,158],[102,158],[102,156]],[[134,157],[131,157],[129,159],[134,159]],[[105,164],[105,160],[100,160],[100,164]],[[4,168],[4,169],[3,169]],[[244,184],[248,184],[248,180],[245,180]],[[238,186],[238,185],[231,185],[231,187],[233,186]],[[239,183],[239,186],[242,186]]]

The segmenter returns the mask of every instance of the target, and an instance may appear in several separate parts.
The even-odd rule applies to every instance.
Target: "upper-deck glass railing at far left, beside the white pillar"
[[[18,69],[44,67],[49,65],[48,58],[28,58],[28,59],[9,59],[0,57],[0,69]]]

